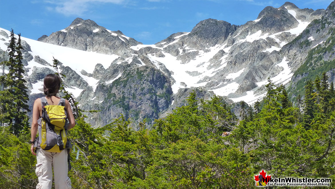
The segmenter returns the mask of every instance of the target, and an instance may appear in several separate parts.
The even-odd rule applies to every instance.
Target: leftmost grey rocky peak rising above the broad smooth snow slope
[[[62,31],[52,33],[48,37],[42,36],[39,41],[84,51],[118,55],[133,52],[130,46],[142,44],[124,36],[121,31],[108,31],[92,20],[81,18],[76,18]]]

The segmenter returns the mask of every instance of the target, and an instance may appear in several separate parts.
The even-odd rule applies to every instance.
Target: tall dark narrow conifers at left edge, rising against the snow
[[[10,34],[8,45],[9,60],[3,61],[3,66],[7,66],[9,73],[0,77],[0,123],[10,127],[14,135],[19,135],[24,128],[28,127],[27,111],[29,111],[25,74],[22,63],[21,35],[18,40],[14,36],[13,30]]]

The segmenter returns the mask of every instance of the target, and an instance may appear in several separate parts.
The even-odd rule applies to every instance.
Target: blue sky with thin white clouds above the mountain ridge
[[[286,0],[287,1],[287,0]],[[292,0],[299,8],[326,9],[332,0]],[[213,18],[243,25],[266,6],[285,0],[1,0],[0,27],[37,40],[62,30],[76,18],[91,19],[109,30],[122,31],[143,44],[173,33],[190,32]]]

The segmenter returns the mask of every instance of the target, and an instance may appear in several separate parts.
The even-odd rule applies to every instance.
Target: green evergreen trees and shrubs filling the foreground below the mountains
[[[21,45],[14,41],[3,62],[13,74],[1,77],[0,188],[35,188]],[[55,58],[54,68],[59,74]],[[269,79],[262,101],[241,103],[240,118],[222,97],[204,100],[192,92],[187,105],[150,129],[144,120],[138,131],[123,115],[93,128],[62,87],[76,118],[68,133],[72,188],[248,189],[256,188],[254,175],[262,169],[276,177],[334,180],[335,91],[327,80],[323,74],[308,81],[304,96],[292,103],[285,87]]]

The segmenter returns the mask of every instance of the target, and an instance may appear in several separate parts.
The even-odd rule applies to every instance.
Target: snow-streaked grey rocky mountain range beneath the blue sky
[[[172,34],[153,45],[76,18],[69,27],[39,41],[22,38],[31,99],[41,96],[43,78],[54,73],[55,57],[67,75],[66,89],[80,107],[99,110],[89,113],[94,126],[106,125],[120,113],[151,122],[185,104],[190,90],[199,97],[216,94],[252,104],[265,95],[268,77],[276,84],[288,84],[307,52],[326,40],[322,31],[316,32],[319,22],[313,20],[331,15],[333,4],[327,10],[312,10],[286,2],[279,8],[264,8],[256,20],[241,26],[206,19],[191,32]],[[334,26],[328,22],[326,29]],[[7,49],[8,35],[0,29],[2,50]],[[301,45],[303,41],[309,45]]]

